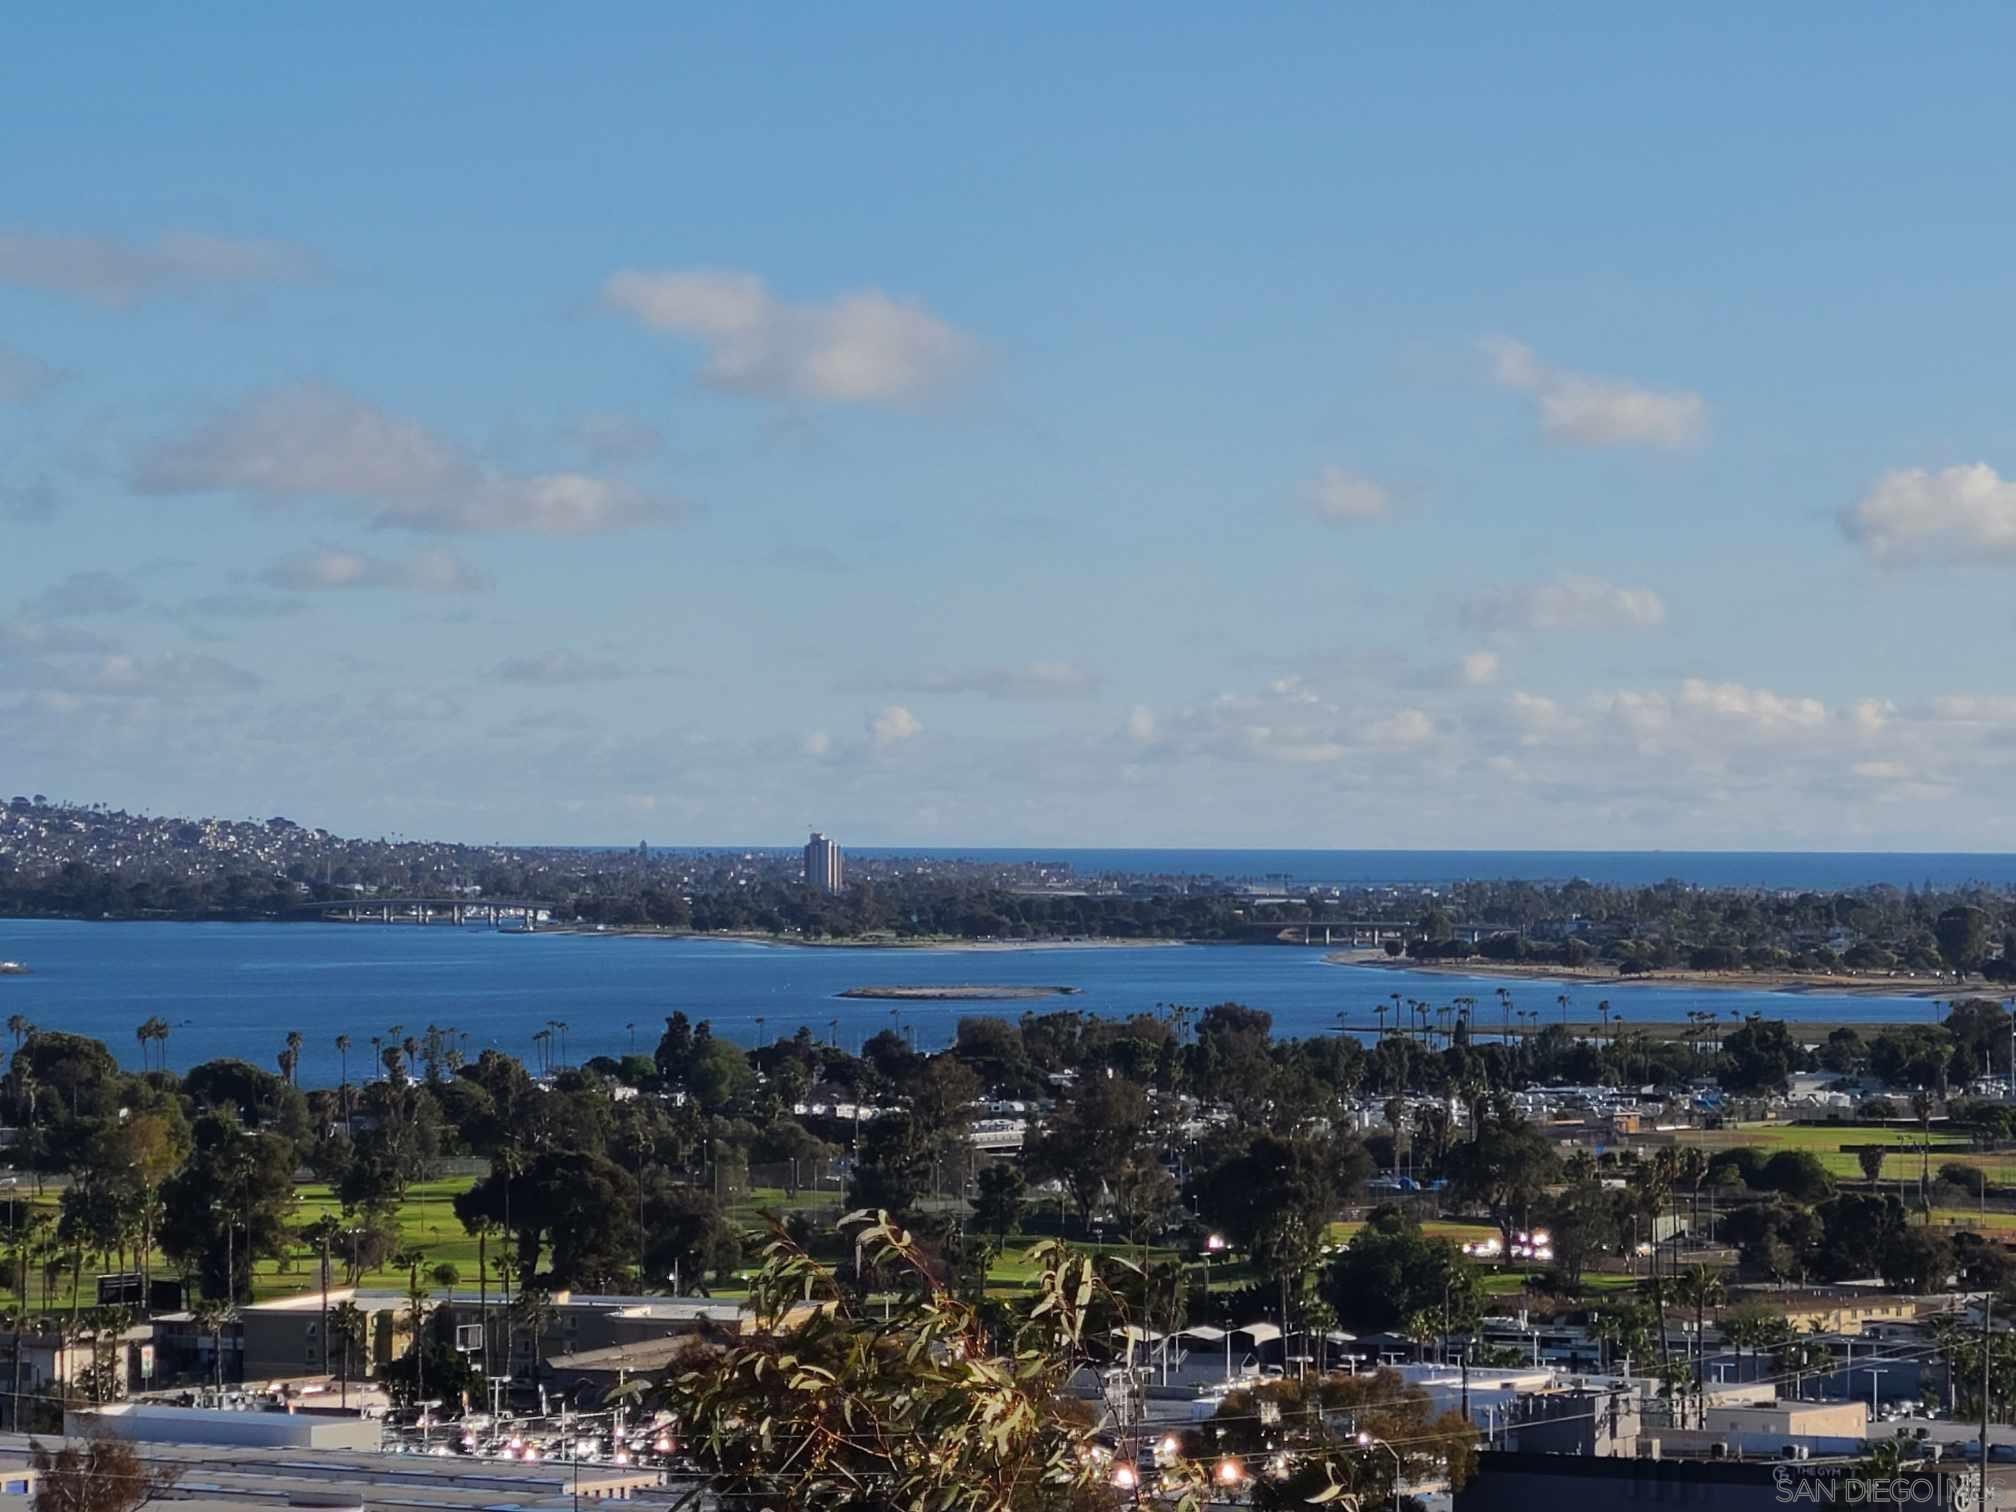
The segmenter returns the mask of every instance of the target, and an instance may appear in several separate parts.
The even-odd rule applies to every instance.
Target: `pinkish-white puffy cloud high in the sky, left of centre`
[[[603,298],[653,331],[702,343],[710,383],[772,399],[911,399],[954,379],[974,353],[968,335],[923,304],[875,288],[790,304],[752,272],[623,270]]]

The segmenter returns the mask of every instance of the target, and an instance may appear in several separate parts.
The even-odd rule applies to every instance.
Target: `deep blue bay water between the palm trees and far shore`
[[[1478,998],[1482,1024],[1498,1014],[1496,990],[1556,1022],[1595,1022],[1599,998],[1611,1020],[1673,1022],[1712,1008],[1724,1018],[1841,1022],[1933,1022],[1917,998],[1841,998],[1716,988],[1464,978],[1381,966],[1333,966],[1322,950],[1290,946],[1165,946],[1056,950],[853,950],[754,946],[728,939],[498,933],[482,927],[351,923],[85,923],[0,919],[0,960],[28,976],[0,976],[0,1020],[24,1014],[44,1028],[105,1040],[139,1064],[133,1030],[159,1016],[171,1026],[169,1064],[240,1056],[272,1066],[288,1030],[300,1030],[302,1083],[335,1085],[337,1034],[349,1034],[351,1075],[371,1066],[371,1038],[454,1028],[468,1054],[502,1048],[534,1058],[532,1034],[562,1020],[566,1054],[649,1052],[673,1010],[708,1018],[744,1044],[794,1032],[859,1042],[897,1024],[919,1048],[952,1040],[974,1014],[1020,1018],[1075,1008],[1101,1016],[1153,1012],[1169,1004],[1244,1002],[1274,1014],[1280,1034],[1325,1034],[1339,1020],[1371,1024],[1373,1008],[1403,998]],[[863,1002],[857,986],[1073,986],[1070,998],[1038,1002]],[[397,1034],[393,1032],[397,1026]]]

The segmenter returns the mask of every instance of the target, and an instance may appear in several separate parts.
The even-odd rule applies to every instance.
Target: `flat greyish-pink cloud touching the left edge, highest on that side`
[[[139,246],[115,236],[0,232],[0,284],[97,304],[292,282],[312,272],[314,258],[288,242],[167,232]]]

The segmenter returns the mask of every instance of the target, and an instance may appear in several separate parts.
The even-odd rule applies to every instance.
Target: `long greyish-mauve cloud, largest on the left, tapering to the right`
[[[381,526],[595,534],[663,524],[677,506],[577,472],[510,476],[423,425],[339,389],[268,389],[141,458],[143,494],[345,500]]]

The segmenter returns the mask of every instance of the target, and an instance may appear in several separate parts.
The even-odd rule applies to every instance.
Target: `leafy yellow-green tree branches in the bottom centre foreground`
[[[1113,1280],[1133,1266],[1046,1240],[1028,1250],[1034,1292],[982,1308],[887,1214],[851,1214],[843,1230],[877,1300],[778,1230],[750,1284],[756,1337],[663,1383],[718,1494],[780,1512],[1135,1500],[1131,1452],[1097,1431],[1097,1403],[1070,1395],[1115,1363],[1127,1312]],[[1159,1504],[1198,1506],[1200,1478],[1171,1476]]]

